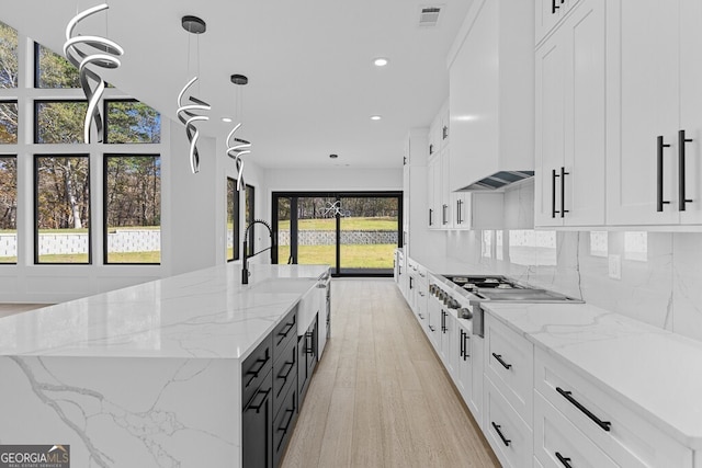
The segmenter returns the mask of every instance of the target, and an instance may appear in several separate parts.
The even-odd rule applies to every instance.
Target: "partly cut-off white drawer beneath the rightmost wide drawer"
[[[534,391],[534,456],[544,468],[618,466],[539,391]]]

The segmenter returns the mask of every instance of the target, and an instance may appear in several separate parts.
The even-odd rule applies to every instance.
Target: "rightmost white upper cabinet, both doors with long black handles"
[[[609,225],[702,222],[699,3],[607,2]],[[681,145],[680,130],[691,141]]]

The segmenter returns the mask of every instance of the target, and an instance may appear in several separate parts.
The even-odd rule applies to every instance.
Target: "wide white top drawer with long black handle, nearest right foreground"
[[[690,448],[645,420],[626,406],[625,399],[610,393],[602,383],[582,370],[536,349],[534,374],[535,389],[544,399],[616,465],[692,467]]]

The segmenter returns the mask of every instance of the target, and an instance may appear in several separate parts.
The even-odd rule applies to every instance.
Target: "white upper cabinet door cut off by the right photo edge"
[[[692,201],[686,203],[684,210],[680,212],[681,221],[702,224],[702,60],[700,59],[702,1],[682,0],[680,8],[680,128],[678,132],[684,130],[684,138],[692,141],[683,141],[684,148],[678,148],[678,158],[684,158],[684,185],[678,186],[677,198],[681,199],[684,192],[686,199]]]

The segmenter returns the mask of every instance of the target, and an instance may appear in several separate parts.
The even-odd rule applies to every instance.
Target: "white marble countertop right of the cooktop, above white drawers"
[[[702,343],[588,304],[484,306],[680,443],[702,448]]]

